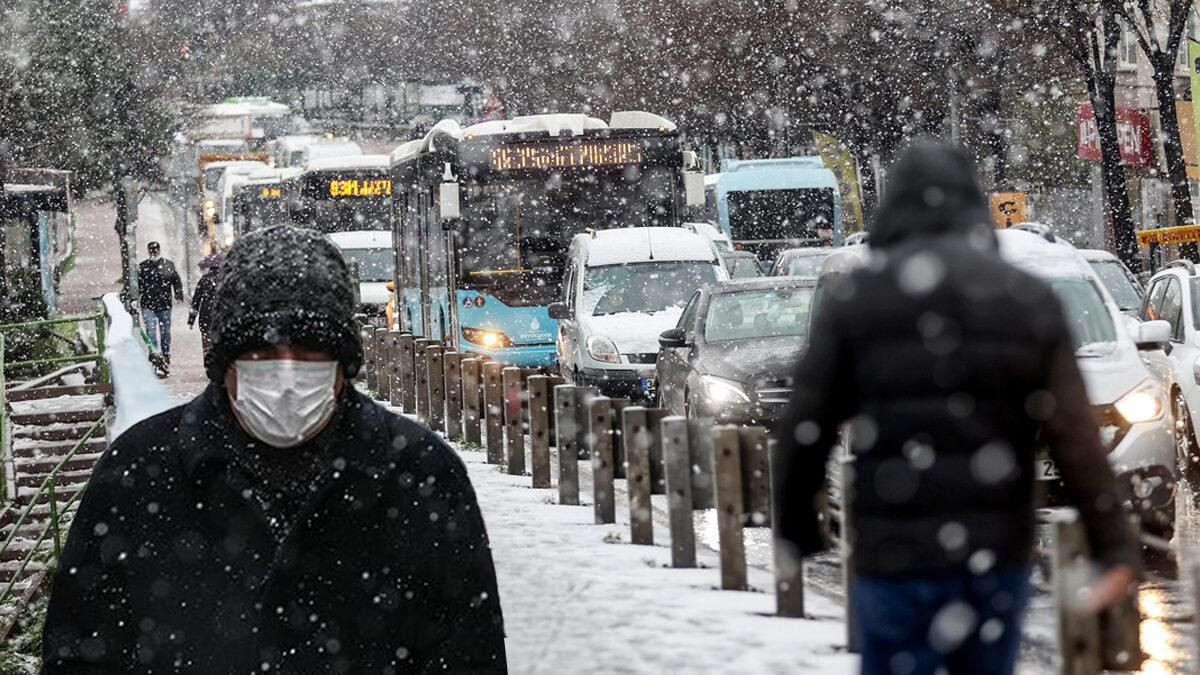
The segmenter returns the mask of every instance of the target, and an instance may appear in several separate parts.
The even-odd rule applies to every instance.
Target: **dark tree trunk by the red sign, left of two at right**
[[[1110,68],[1099,68],[1090,73],[1094,82],[1088,83],[1092,95],[1092,109],[1096,113],[1096,126],[1100,139],[1100,171],[1104,175],[1105,211],[1112,223],[1112,240],[1109,246],[1121,262],[1134,274],[1141,271],[1141,259],[1138,257],[1138,232],[1129,213],[1129,189],[1126,185],[1124,167],[1121,166],[1121,148],[1117,141],[1116,101],[1114,90],[1116,74]]]

